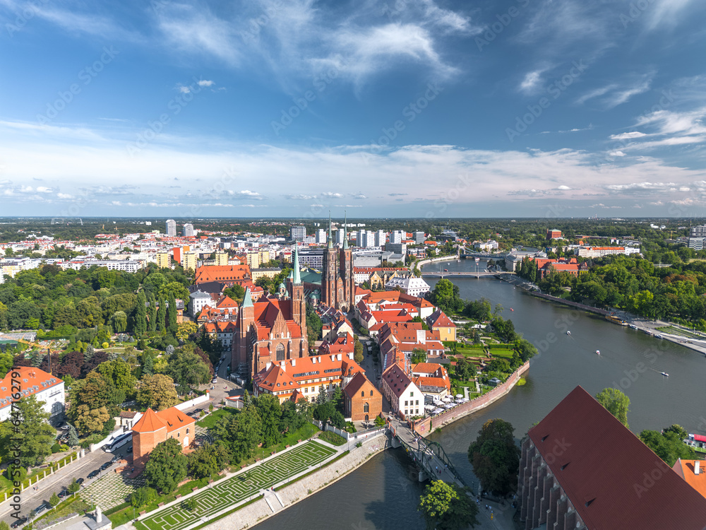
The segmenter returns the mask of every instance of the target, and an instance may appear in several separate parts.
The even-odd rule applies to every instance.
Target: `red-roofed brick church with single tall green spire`
[[[306,338],[306,300],[299,270],[299,252],[294,251],[287,295],[253,302],[246,289],[233,334],[231,366],[247,366],[252,378],[267,363],[309,355]]]

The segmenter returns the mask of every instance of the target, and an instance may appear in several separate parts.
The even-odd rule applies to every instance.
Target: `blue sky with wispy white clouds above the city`
[[[706,216],[698,0],[0,0],[0,215]]]

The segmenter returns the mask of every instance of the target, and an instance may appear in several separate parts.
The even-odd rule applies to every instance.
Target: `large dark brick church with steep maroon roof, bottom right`
[[[706,499],[576,387],[522,441],[525,529],[702,530]]]

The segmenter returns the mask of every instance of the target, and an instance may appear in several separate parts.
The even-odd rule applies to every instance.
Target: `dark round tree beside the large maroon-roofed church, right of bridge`
[[[468,447],[468,460],[481,486],[496,495],[510,493],[517,486],[520,448],[513,432],[513,425],[505,420],[488,420]]]

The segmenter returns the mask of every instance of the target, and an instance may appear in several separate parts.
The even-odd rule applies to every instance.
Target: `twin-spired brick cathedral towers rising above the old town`
[[[323,251],[321,273],[321,303],[328,307],[349,312],[355,300],[355,277],[353,275],[353,251],[348,246],[346,233],[347,217],[343,223],[343,246],[333,247],[331,218],[328,218],[328,246]]]

